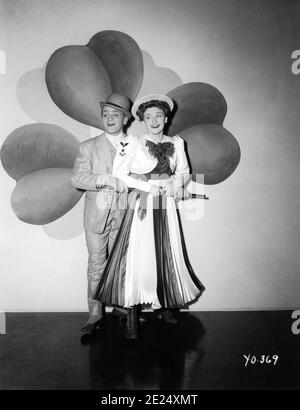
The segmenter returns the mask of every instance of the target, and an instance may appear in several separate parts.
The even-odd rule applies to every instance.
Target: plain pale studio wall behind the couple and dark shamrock
[[[291,69],[299,2],[1,0],[0,10],[1,145],[35,122],[80,141],[95,135],[55,106],[43,67],[57,48],[84,45],[99,31],[123,31],[138,43],[143,94],[192,81],[217,87],[241,161],[225,182],[205,188],[204,209],[195,215],[190,203],[181,211],[190,261],[206,287],[190,309],[299,307],[300,74]],[[83,200],[34,226],[13,213],[15,181],[2,166],[0,186],[0,310],[85,311]]]

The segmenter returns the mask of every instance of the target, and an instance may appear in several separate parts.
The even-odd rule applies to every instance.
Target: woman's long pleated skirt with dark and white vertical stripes
[[[184,307],[205,288],[189,263],[175,201],[149,194],[141,213],[142,195],[139,191],[129,195],[94,299],[126,308]]]

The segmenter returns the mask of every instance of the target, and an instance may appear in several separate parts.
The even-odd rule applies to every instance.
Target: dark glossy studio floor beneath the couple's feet
[[[81,339],[84,313],[7,313],[0,389],[299,389],[291,313],[182,312],[166,325],[147,312],[136,341],[111,314]]]

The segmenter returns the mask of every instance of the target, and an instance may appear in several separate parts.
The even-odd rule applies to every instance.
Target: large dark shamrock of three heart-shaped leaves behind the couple
[[[143,82],[143,56],[127,34],[102,31],[85,46],[55,51],[45,80],[51,98],[65,114],[102,128],[99,101],[111,92],[135,100]],[[224,181],[240,160],[236,139],[222,126],[227,110],[224,97],[205,83],[183,84],[168,95],[177,109],[168,134],[186,140],[193,177],[204,174],[206,184]],[[25,125],[6,138],[1,161],[17,181],[11,203],[18,218],[47,224],[78,202],[83,191],[70,183],[78,146],[71,133],[52,124]]]

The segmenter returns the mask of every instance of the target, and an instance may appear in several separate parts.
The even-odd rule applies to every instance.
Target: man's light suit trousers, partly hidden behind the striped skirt
[[[120,223],[122,221],[122,213],[120,210],[111,210],[105,230],[102,233],[85,230],[86,244],[88,248],[88,306],[90,315],[99,315],[102,305],[97,300],[93,299],[93,295],[97,289],[99,280],[105,268],[108,255],[112,249],[116,239]]]

